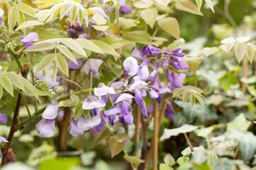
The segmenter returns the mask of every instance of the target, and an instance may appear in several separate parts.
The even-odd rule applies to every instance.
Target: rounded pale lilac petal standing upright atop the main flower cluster
[[[128,57],[127,59],[124,60],[123,65],[125,67],[125,72],[129,76],[134,76],[137,74],[137,71],[138,71],[137,59],[134,59],[133,57]]]

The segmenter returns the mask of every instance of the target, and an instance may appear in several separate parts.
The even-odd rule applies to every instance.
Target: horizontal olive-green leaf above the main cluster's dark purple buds
[[[131,31],[123,35],[122,38],[130,42],[138,42],[143,44],[148,44],[150,41],[150,35],[146,31]]]

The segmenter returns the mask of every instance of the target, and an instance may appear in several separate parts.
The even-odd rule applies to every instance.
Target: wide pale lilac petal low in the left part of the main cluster
[[[102,118],[100,116],[94,116],[93,118],[84,119],[84,116],[79,118],[78,127],[82,130],[89,130],[92,127],[96,127],[102,122]]]

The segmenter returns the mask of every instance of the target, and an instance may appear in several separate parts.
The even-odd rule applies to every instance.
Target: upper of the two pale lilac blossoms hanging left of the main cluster
[[[55,119],[58,116],[58,102],[52,100],[49,105],[46,106],[42,117],[44,119]]]

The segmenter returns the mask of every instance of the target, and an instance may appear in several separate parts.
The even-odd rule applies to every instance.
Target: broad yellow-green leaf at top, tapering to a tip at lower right
[[[161,29],[168,32],[170,35],[179,39],[179,25],[175,18],[167,17],[158,21],[158,25]]]

